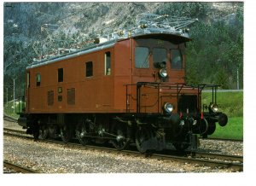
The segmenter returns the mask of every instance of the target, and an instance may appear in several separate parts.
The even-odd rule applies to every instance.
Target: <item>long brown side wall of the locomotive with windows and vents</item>
[[[111,69],[110,74],[105,72],[105,58],[114,67],[113,48],[28,69],[30,85],[26,89],[26,112],[111,112],[114,70]]]

